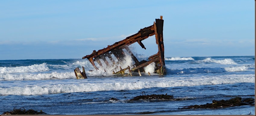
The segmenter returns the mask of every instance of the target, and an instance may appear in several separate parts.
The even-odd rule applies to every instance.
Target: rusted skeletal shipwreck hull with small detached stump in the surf
[[[138,59],[134,56],[128,46],[137,42],[141,46],[141,48],[146,49],[146,47],[142,43],[142,40],[147,39],[149,36],[153,35],[155,35],[156,37],[158,52],[148,57],[147,60],[138,61]],[[128,65],[127,68],[122,69],[121,66],[118,67],[116,64],[122,62],[125,58],[124,51],[128,52],[128,54],[134,61],[134,64],[132,66]],[[113,59],[113,57],[117,59],[117,62]],[[136,34],[128,36],[125,39],[119,42],[115,42],[113,45],[108,45],[106,48],[100,49],[98,51],[93,50],[92,54],[82,57],[82,59],[86,58],[90,61],[95,70],[99,70],[99,68],[103,69],[104,71],[109,70],[108,67],[112,64],[112,66],[116,65],[117,68],[120,68],[119,71],[112,71],[112,73],[124,76],[132,76],[132,72],[138,72],[141,76],[141,72],[145,72],[144,67],[152,62],[155,62],[154,73],[157,73],[159,75],[166,75],[163,44],[163,16],[160,16],[160,19],[156,19],[153,22],[153,25],[140,29]],[[95,65],[96,62],[99,64],[98,67]],[[103,63],[105,63],[105,65],[103,65]],[[82,68],[83,72],[81,72],[78,67],[74,69],[77,79],[87,78],[84,67]],[[125,73],[126,70],[128,70],[129,72]],[[148,75],[150,75],[149,72],[145,73],[148,73]]]

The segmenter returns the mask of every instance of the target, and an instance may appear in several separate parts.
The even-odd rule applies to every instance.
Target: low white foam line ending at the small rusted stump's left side
[[[74,72],[52,72],[39,74],[0,74],[0,81],[6,80],[42,80],[42,79],[66,79],[75,78]]]

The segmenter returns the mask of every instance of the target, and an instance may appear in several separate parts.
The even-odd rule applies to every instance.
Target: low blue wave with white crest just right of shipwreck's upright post
[[[220,73],[220,72],[236,72],[236,71],[246,71],[247,67],[245,66],[236,66],[236,67],[226,67],[226,68],[183,68],[183,69],[169,69],[166,68],[167,73],[179,74],[179,73]]]

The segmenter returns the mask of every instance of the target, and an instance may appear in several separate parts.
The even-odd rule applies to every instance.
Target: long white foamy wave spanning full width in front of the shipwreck
[[[104,80],[100,83],[88,82],[74,84],[54,84],[34,86],[11,86],[0,88],[0,95],[40,95],[40,94],[56,94],[56,93],[72,93],[72,92],[91,92],[91,91],[112,91],[112,90],[132,90],[153,87],[176,87],[176,86],[199,86],[226,83],[254,83],[255,76],[249,75],[230,75],[223,77],[185,77],[183,79],[175,79],[169,77],[154,78],[152,80],[140,79],[123,79],[123,80]]]

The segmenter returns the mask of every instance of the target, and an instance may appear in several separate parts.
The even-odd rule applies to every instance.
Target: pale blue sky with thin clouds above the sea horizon
[[[1,0],[0,60],[80,59],[160,15],[165,57],[254,56],[254,14],[253,0]]]

